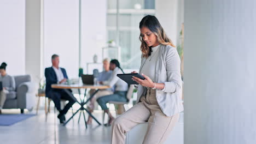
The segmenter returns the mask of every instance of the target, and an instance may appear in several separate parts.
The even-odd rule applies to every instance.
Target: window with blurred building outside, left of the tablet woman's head
[[[119,61],[124,69],[137,70],[141,64],[138,26],[149,14],[155,15],[155,0],[108,0],[107,39],[114,40],[121,47]]]

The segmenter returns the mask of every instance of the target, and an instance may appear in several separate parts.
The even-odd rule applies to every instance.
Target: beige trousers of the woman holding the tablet
[[[155,89],[147,88],[146,97],[141,97],[138,104],[113,122],[111,143],[125,143],[125,133],[137,124],[145,122],[148,122],[148,128],[143,143],[164,143],[178,119],[179,113],[172,117],[162,113],[155,97]]]

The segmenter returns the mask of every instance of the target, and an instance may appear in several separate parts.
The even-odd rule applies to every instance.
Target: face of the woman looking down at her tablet
[[[141,37],[148,46],[155,47],[159,45],[158,37],[156,37],[156,35],[151,32],[147,27],[142,27],[140,30]]]

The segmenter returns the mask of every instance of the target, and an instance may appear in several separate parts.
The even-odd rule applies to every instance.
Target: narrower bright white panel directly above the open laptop
[[[81,67],[86,73],[86,63],[93,62],[98,56],[102,62],[102,47],[106,46],[107,1],[82,1],[82,61]],[[90,73],[90,72],[89,72]]]

